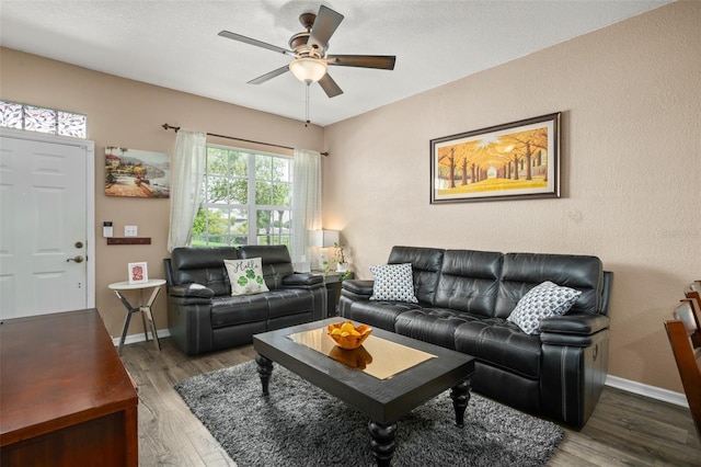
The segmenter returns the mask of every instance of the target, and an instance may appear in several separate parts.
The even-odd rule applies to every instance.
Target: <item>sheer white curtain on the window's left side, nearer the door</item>
[[[187,247],[199,207],[199,192],[207,163],[207,134],[180,129],[171,166],[171,227],[168,251]]]

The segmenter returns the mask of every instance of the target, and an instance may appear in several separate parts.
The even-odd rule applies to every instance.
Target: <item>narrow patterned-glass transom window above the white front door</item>
[[[88,137],[85,115],[9,101],[0,101],[0,126],[76,138]]]

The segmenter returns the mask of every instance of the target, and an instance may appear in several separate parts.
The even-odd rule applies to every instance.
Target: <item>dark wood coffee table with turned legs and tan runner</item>
[[[370,447],[379,466],[392,460],[399,419],[444,390],[450,389],[456,424],[463,425],[474,357],[381,329],[359,349],[345,351],[326,335],[326,326],[341,320],[253,335],[263,394],[276,362],[356,408],[370,419]]]

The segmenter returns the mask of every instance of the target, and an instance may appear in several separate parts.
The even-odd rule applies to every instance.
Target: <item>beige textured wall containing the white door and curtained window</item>
[[[150,277],[164,277],[162,260],[169,255],[165,249],[170,201],[105,196],[105,146],[172,153],[175,134],[161,127],[169,123],[257,141],[322,149],[323,128],[318,126],[304,127],[303,123],[289,118],[8,48],[0,48],[0,82],[2,99],[88,115],[88,138],[95,141],[95,304],[113,337],[122,333],[125,309],[107,284],[126,281],[127,263],[137,261],[148,262]],[[285,149],[241,141],[217,138],[208,141],[291,155]],[[102,237],[104,220],[114,223],[115,237],[123,237],[125,225],[138,226],[139,237],[151,237],[151,244],[107,246]],[[156,301],[154,315],[158,329],[168,328],[164,293]],[[131,334],[141,329],[141,320],[136,318],[129,328]]]

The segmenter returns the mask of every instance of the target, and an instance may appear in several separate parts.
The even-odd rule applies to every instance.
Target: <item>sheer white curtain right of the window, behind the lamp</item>
[[[292,244],[294,262],[302,257],[310,261],[310,232],[321,229],[321,155],[307,149],[295,149],[292,184]]]

